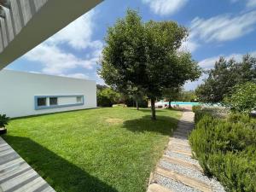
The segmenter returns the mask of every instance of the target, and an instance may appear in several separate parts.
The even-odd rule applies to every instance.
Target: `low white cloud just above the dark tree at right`
[[[252,55],[252,56],[256,56],[256,51],[253,51],[249,54]],[[222,55],[207,58],[203,61],[200,61],[198,64],[203,69],[210,69],[210,68],[214,67],[215,62],[218,61],[220,56],[222,56]],[[231,54],[231,55],[223,55],[223,56],[227,60],[230,60],[230,59],[234,58],[236,61],[241,61],[243,55],[242,54]]]

